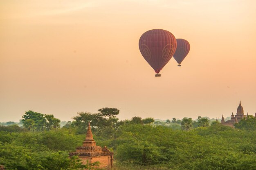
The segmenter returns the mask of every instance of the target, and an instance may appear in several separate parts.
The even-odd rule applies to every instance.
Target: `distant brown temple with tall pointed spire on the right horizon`
[[[255,116],[256,116],[256,113],[255,113]],[[240,122],[241,119],[247,118],[247,117],[248,117],[248,113],[245,116],[244,109],[243,109],[243,106],[241,105],[241,101],[240,101],[239,106],[236,110],[236,115],[234,115],[234,113],[232,112],[231,120],[227,120],[226,122],[222,115],[221,124],[234,128],[234,124]]]

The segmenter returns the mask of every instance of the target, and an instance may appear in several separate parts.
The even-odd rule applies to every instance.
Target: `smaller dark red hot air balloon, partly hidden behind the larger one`
[[[177,40],[177,49],[173,55],[173,58],[179,63],[178,66],[181,66],[181,62],[184,60],[187,54],[189,54],[190,45],[189,42],[185,39],[176,39]]]

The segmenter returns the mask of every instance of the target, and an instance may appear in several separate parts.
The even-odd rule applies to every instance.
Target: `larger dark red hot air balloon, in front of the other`
[[[149,30],[139,39],[139,50],[144,59],[155,70],[156,77],[173,56],[177,42],[172,33],[162,29]]]

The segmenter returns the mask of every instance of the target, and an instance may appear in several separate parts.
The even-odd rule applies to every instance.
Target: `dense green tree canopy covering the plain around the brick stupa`
[[[93,167],[85,167],[77,157],[68,158],[68,153],[82,144],[90,121],[97,145],[106,145],[114,152],[114,170],[256,169],[254,117],[241,120],[236,124],[238,129],[232,129],[218,122],[210,126],[209,120],[201,117],[197,121],[173,118],[161,122],[136,116],[118,121],[118,113],[112,108],[99,109],[99,113],[80,112],[63,128],[45,126],[43,131],[0,126],[0,165],[7,170]],[[32,116],[27,120],[33,120]]]

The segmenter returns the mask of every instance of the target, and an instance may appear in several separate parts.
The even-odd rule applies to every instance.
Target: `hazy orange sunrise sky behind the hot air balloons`
[[[120,109],[119,118],[210,118],[256,112],[254,0],[2,0],[0,122],[25,111],[71,120]],[[139,37],[162,28],[189,41],[155,77]]]

